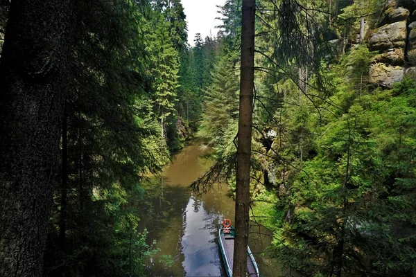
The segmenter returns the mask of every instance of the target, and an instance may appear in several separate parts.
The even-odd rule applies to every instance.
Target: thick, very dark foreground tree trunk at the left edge
[[[0,276],[42,276],[73,1],[11,1],[0,63]]]

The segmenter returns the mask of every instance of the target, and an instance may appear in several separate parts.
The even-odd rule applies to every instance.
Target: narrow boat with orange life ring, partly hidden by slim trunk
[[[234,258],[234,227],[231,225],[231,220],[223,220],[223,226],[220,227],[218,233],[218,244],[220,244],[221,256],[225,265],[225,271],[228,277],[232,277],[232,262]],[[254,260],[250,247],[247,247],[247,276],[259,277],[259,267]]]

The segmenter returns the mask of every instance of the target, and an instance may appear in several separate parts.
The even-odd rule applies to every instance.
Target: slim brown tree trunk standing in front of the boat
[[[236,164],[236,237],[234,276],[245,276],[250,210],[250,156],[252,139],[252,102],[254,90],[254,13],[255,0],[243,1],[241,30],[241,79],[239,134]]]

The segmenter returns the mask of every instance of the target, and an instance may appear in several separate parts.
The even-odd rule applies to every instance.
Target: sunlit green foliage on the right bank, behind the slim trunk
[[[323,44],[337,34],[355,41],[360,17],[373,24],[381,2],[257,5],[251,185],[254,215],[275,233],[272,252],[304,276],[416,276],[416,84],[369,87],[365,44],[338,60]],[[224,50],[203,98],[199,134],[214,143],[216,166],[202,190],[220,177],[235,184],[237,123],[225,112],[233,60],[224,55],[238,47],[232,10],[227,1]]]

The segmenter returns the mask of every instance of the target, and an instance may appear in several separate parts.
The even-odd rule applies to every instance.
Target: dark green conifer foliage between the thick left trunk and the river
[[[175,47],[186,24],[174,2],[164,12],[147,1],[77,2],[46,276],[143,276],[156,251],[135,207],[144,176],[169,161],[161,116],[177,121]]]

